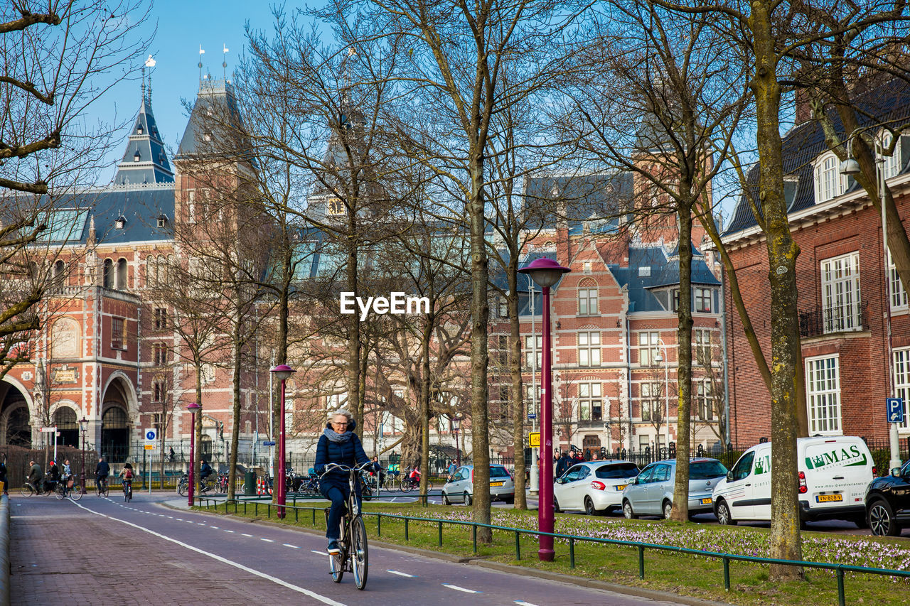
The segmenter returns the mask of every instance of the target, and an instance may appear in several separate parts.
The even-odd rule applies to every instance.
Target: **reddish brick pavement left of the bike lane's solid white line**
[[[300,604],[248,572],[45,497],[10,499],[14,604]]]

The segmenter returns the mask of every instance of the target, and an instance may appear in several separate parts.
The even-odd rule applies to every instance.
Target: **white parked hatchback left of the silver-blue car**
[[[583,510],[589,516],[622,508],[622,490],[638,475],[628,460],[592,460],[573,465],[553,485],[553,506]]]

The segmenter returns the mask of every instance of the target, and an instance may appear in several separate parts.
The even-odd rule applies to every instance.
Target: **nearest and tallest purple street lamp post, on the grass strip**
[[[541,287],[543,294],[542,310],[542,364],[541,364],[541,489],[537,506],[537,527],[541,532],[553,531],[555,517],[553,513],[553,410],[552,410],[552,359],[550,344],[550,288],[560,281],[562,274],[571,271],[563,268],[551,258],[538,258],[531,265],[519,269],[528,274],[534,283]],[[553,560],[552,536],[539,535],[537,557],[541,561]]]

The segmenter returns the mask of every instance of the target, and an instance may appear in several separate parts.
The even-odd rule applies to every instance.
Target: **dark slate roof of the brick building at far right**
[[[858,97],[857,106],[860,126],[888,124],[896,128],[905,125],[910,119],[910,83],[897,78],[881,86],[871,86],[867,92]],[[838,136],[844,140],[844,126],[836,111],[829,110],[829,114]],[[908,148],[905,141],[902,140],[902,144],[904,149]],[[824,143],[822,127],[814,120],[794,126],[784,136],[784,197],[787,200],[788,213],[814,206],[815,187],[812,162],[828,149]],[[901,167],[900,172],[905,173],[910,167],[910,162],[908,162],[910,154],[905,154],[902,160],[904,166]],[[758,164],[750,169],[748,179],[752,186],[737,202],[733,216],[723,231],[724,235],[755,225],[751,205],[745,196],[757,199],[758,171]],[[852,178],[848,183],[848,192],[859,187]]]

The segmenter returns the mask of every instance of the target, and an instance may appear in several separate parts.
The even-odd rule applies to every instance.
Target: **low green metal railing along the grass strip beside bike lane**
[[[421,495],[424,500],[426,500],[426,495]],[[197,498],[199,501],[199,506],[203,507],[203,501],[205,501],[205,508],[207,510],[213,509],[211,503],[213,500],[207,499],[205,497]],[[238,503],[243,504],[243,513],[247,513],[247,506],[251,504],[254,506],[254,515],[259,515],[259,505],[257,501],[245,501],[245,500],[224,500],[224,501],[214,501],[214,509],[217,511],[220,502],[224,503],[224,512],[230,513],[229,506],[233,504],[233,513],[239,513]],[[278,509],[278,505],[275,503],[265,503],[266,505],[266,515],[268,518],[271,518],[272,510]],[[286,510],[294,511],[294,521],[299,521],[300,511],[311,511],[312,512],[312,521],[311,523],[316,525],[316,512],[325,511],[324,507],[300,507],[298,505],[285,505]],[[723,562],[723,589],[725,591],[730,591],[730,562],[731,561],[745,561],[755,564],[777,564],[784,566],[799,566],[802,568],[814,568],[818,570],[825,571],[834,571],[835,577],[837,579],[837,603],[838,606],[846,606],[846,598],[844,591],[844,573],[845,572],[859,572],[862,574],[878,574],[888,577],[898,577],[910,579],[910,571],[895,571],[892,569],[886,568],[871,568],[867,566],[853,566],[849,564],[828,564],[825,562],[819,561],[798,561],[798,560],[778,560],[775,558],[762,558],[758,556],[743,556],[736,555],[733,553],[723,553],[721,551],[703,551],[703,550],[693,550],[687,547],[676,547],[673,545],[661,545],[659,543],[642,543],[634,540],[620,540],[620,539],[601,539],[597,537],[581,537],[572,534],[562,534],[560,532],[541,532],[540,530],[525,530],[520,528],[511,528],[509,526],[497,526],[495,524],[483,524],[475,521],[465,521],[465,520],[440,520],[438,518],[420,518],[416,516],[401,515],[397,513],[381,513],[379,511],[362,511],[361,515],[363,516],[375,516],[376,517],[376,534],[378,537],[382,536],[382,519],[388,518],[391,520],[404,520],[404,540],[410,540],[409,538],[409,524],[411,521],[416,522],[428,522],[437,525],[438,530],[438,542],[439,546],[442,547],[442,526],[443,524],[450,524],[453,526],[470,526],[471,527],[471,541],[473,544],[473,552],[477,553],[477,529],[479,528],[489,528],[490,530],[502,530],[505,532],[512,532],[515,534],[515,559],[521,560],[521,535],[531,535],[534,537],[539,536],[549,536],[554,539],[566,540],[569,543],[569,568],[575,568],[575,544],[579,542],[586,543],[595,543],[602,545],[614,545],[622,547],[633,547],[638,550],[638,578],[644,579],[644,555],[645,550],[656,550],[656,551],[670,551],[672,553],[683,553],[687,555],[697,555],[704,558],[715,558]],[[286,518],[288,517],[288,512],[286,512]]]

